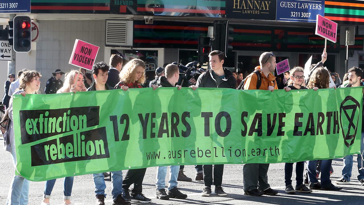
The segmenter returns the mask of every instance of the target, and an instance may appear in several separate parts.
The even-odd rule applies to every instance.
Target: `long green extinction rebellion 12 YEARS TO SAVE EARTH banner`
[[[153,166],[340,158],[360,151],[362,89],[16,95],[16,171],[44,181]]]

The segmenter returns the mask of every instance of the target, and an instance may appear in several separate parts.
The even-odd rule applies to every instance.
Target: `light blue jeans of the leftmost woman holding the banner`
[[[10,128],[12,129],[12,128]],[[16,168],[15,142],[11,144],[11,158]],[[21,176],[14,175],[10,184],[6,205],[27,205],[30,181]]]

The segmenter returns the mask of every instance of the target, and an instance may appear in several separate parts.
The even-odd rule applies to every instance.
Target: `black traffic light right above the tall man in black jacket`
[[[216,20],[214,21],[214,41],[213,49],[227,53],[233,50],[231,43],[234,38],[232,37],[234,28],[229,26],[229,20]]]

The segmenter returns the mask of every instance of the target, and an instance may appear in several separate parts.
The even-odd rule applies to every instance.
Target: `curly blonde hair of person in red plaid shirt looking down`
[[[135,74],[136,74],[136,68],[137,67],[143,67],[145,69],[145,63],[141,59],[132,59],[131,61],[127,62],[123,69],[121,70],[119,77],[120,81],[124,83],[133,83]],[[142,73],[142,76],[137,81],[138,84],[143,84],[145,82],[145,73]]]

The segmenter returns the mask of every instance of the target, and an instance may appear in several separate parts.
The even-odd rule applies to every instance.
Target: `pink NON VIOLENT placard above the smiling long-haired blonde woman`
[[[87,70],[92,70],[98,52],[98,46],[76,39],[70,62],[68,63]]]

